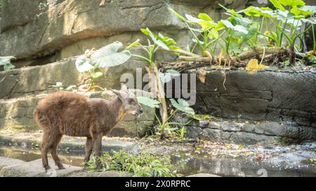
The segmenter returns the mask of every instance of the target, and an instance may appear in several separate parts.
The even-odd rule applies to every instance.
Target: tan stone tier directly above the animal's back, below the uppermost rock
[[[46,64],[45,66],[31,66],[11,71],[0,71],[0,99],[21,97],[28,94],[40,94],[55,90],[53,85],[61,82],[63,87],[77,85],[86,74],[79,73],[74,64],[76,57],[63,59],[60,62]],[[145,73],[145,62],[129,59],[120,66],[103,68],[106,78],[99,78],[96,84],[101,87],[119,89],[121,74],[131,73],[136,75],[136,66],[143,68]],[[3,91],[2,91],[3,90]]]

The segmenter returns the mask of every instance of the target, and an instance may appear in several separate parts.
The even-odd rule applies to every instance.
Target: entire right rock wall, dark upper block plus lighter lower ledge
[[[205,83],[197,79],[194,108],[220,120],[193,122],[187,136],[251,144],[316,140],[315,69],[231,70],[225,87],[223,71],[206,71]]]

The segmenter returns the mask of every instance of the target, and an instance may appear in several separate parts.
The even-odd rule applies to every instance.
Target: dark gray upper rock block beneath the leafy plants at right
[[[206,83],[197,80],[197,103],[202,113],[222,118],[295,122],[315,127],[316,71],[270,69],[254,75],[246,71],[210,71]],[[256,129],[262,134],[260,128]]]

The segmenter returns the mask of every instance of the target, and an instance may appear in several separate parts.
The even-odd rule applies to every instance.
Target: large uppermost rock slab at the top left
[[[144,27],[176,30],[185,27],[160,0],[107,1],[102,7],[99,1],[85,0],[65,0],[44,8],[40,3],[45,4],[37,0],[24,8],[22,1],[4,2],[2,11],[8,16],[1,19],[0,45],[6,47],[1,56],[42,57],[83,39],[139,31]],[[185,10],[185,6],[180,8]],[[27,13],[20,16],[16,10]]]

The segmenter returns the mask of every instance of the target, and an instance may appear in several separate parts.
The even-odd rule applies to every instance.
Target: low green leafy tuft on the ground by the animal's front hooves
[[[169,157],[156,155],[149,151],[138,154],[129,154],[124,150],[113,151],[113,155],[105,153],[100,157],[104,171],[126,171],[133,176],[145,177],[176,177],[180,174],[173,173],[173,166]],[[96,171],[95,160],[90,160],[88,170]]]

